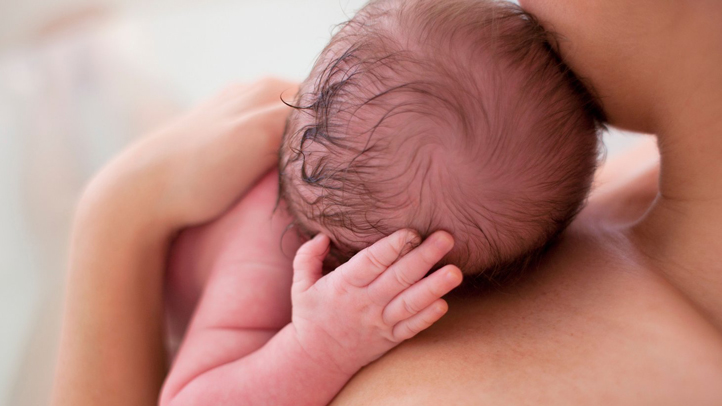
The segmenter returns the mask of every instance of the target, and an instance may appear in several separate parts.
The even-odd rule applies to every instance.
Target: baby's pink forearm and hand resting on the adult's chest
[[[447,266],[421,278],[453,241],[437,232],[413,248],[418,242],[414,232],[396,232],[324,277],[329,240],[307,242],[294,261],[292,322],[265,345],[272,329],[254,338],[255,326],[191,326],[161,404],[327,404],[360,368],[445,313],[440,298],[461,272]]]

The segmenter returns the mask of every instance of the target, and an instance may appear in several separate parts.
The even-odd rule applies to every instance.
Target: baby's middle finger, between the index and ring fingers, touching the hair
[[[446,231],[431,234],[421,245],[399,259],[369,286],[369,294],[378,303],[389,303],[396,295],[426,275],[454,246]]]

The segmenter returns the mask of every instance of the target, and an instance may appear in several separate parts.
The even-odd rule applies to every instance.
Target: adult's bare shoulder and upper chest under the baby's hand
[[[334,404],[722,399],[718,332],[663,279],[597,247],[570,237],[519,284],[449,298],[444,319],[361,371]]]

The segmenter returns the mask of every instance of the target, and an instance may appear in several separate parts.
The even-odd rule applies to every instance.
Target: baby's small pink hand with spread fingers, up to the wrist
[[[451,250],[453,238],[438,231],[419,243],[416,232],[397,231],[323,277],[329,238],[319,234],[298,250],[293,327],[315,362],[354,374],[446,313],[441,297],[461,283],[459,268],[447,265],[421,278]]]

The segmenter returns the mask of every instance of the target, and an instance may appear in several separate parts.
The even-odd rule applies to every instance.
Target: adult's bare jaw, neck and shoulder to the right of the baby
[[[649,149],[611,162],[540,269],[450,298],[334,404],[720,404],[722,3],[522,5],[613,124],[658,135],[661,173]]]

